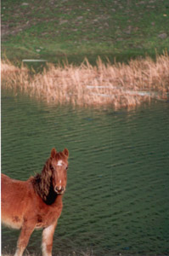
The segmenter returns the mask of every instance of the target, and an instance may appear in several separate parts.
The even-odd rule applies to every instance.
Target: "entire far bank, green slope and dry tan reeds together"
[[[166,100],[168,56],[161,54],[169,50],[168,21],[168,0],[7,0],[3,86],[56,104],[132,108],[152,98]],[[57,65],[32,75],[21,67],[23,59]],[[61,66],[62,60],[71,64]]]

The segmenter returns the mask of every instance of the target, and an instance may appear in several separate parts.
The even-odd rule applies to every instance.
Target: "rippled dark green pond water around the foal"
[[[53,253],[169,255],[169,103],[136,110],[47,106],[2,89],[2,172],[25,180],[70,150]],[[20,191],[21,193],[21,191]],[[2,227],[13,253],[20,230]],[[41,255],[42,231],[29,253]]]

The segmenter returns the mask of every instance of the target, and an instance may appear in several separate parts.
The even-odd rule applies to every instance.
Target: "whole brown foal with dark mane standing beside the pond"
[[[69,151],[53,148],[41,174],[26,181],[2,174],[2,222],[21,229],[14,256],[22,256],[31,233],[42,228],[42,255],[51,256],[54,230],[62,212]]]

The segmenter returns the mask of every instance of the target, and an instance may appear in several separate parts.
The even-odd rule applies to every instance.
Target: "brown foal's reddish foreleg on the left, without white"
[[[31,225],[28,226],[28,224],[22,226],[20,237],[17,242],[17,249],[16,249],[16,252],[14,253],[14,256],[22,256],[33,230],[34,230],[34,226],[31,226]]]

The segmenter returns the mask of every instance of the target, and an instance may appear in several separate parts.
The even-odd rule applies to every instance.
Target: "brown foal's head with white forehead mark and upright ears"
[[[50,170],[52,171],[52,183],[54,191],[61,195],[65,192],[67,183],[67,169],[68,169],[69,151],[67,148],[63,152],[57,153],[53,148],[50,156]]]

